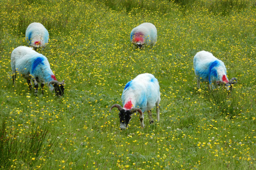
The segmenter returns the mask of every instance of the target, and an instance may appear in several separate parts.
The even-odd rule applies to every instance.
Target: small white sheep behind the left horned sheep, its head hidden
[[[49,33],[41,23],[31,23],[26,28],[26,40],[35,50],[45,48],[49,40]]]

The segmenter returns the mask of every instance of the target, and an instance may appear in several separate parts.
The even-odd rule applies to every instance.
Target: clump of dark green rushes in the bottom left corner
[[[38,123],[38,122],[37,122]],[[27,166],[40,161],[41,157],[53,152],[57,136],[48,133],[50,124],[8,125],[2,120],[0,126],[0,168],[9,169],[14,161],[24,162]]]

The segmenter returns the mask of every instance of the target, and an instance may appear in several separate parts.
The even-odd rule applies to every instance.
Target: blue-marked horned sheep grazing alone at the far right
[[[237,82],[235,77],[230,79],[230,81],[227,79],[227,69],[224,62],[207,51],[199,51],[195,54],[194,71],[197,77],[198,89],[200,88],[200,81],[209,82],[210,89],[212,82],[215,82],[216,84],[225,84],[227,90],[230,90],[232,84]],[[234,80],[236,80],[236,82],[234,82]]]

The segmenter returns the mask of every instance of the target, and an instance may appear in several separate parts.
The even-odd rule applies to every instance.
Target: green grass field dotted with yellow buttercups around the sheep
[[[1,0],[0,170],[256,169],[256,8],[242,0]],[[11,52],[26,27],[49,31],[44,54],[63,97],[30,91]],[[153,48],[134,49],[132,28],[157,28]],[[193,57],[210,51],[238,83],[196,88]],[[160,122],[138,114],[119,130],[125,84],[151,73]],[[152,110],[156,120],[156,109]]]

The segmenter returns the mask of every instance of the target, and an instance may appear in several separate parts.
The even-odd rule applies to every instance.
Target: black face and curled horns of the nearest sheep
[[[131,108],[130,110],[125,110],[122,108],[122,106],[118,105],[118,104],[114,104],[113,106],[111,106],[110,110],[112,110],[112,108],[118,108],[119,112],[119,118],[120,118],[120,129],[126,129],[126,127],[128,126],[130,120],[131,120],[131,115],[135,112],[139,112],[141,115],[143,115],[143,112],[140,110],[140,108]]]

